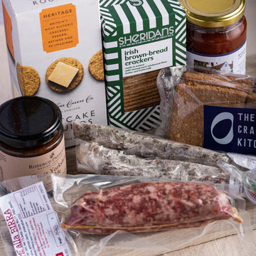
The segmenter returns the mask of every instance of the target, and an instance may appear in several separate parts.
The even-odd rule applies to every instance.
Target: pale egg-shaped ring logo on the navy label
[[[219,139],[213,135],[213,129],[216,124],[218,124],[219,122],[221,122],[225,119],[229,119],[231,121],[231,127],[230,127],[228,134],[224,138]],[[218,144],[223,144],[223,145],[232,142],[233,137],[234,137],[233,123],[234,123],[234,116],[233,116],[233,114],[231,114],[229,112],[222,112],[222,113],[216,115],[216,117],[213,119],[213,122],[210,127],[210,134],[212,135],[215,142],[217,142]]]

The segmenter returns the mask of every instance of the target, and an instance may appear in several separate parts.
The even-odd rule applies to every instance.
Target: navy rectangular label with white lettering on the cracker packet
[[[256,110],[204,106],[204,144],[208,149],[256,154]]]

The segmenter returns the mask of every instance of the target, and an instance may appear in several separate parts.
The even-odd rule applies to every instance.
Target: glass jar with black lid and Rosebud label
[[[66,174],[62,114],[42,97],[16,97],[0,106],[0,181]],[[44,180],[49,191],[51,181]]]

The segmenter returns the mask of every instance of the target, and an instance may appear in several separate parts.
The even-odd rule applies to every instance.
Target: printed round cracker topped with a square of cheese
[[[46,71],[46,82],[55,92],[68,92],[82,81],[84,70],[75,58],[59,58]]]

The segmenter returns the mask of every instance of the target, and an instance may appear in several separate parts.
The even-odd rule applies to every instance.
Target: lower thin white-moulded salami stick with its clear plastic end
[[[232,164],[216,159],[218,167],[215,167],[158,157],[143,158],[80,139],[76,146],[78,170],[85,174],[144,176],[237,185],[233,188],[238,190],[240,196],[256,203],[256,157],[234,153],[227,156]]]

